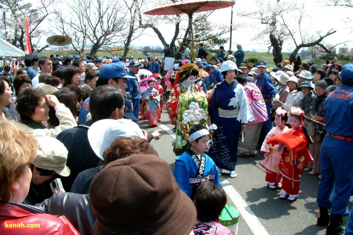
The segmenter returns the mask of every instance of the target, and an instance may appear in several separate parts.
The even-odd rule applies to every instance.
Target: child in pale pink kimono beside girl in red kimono
[[[279,172],[278,164],[282,159],[283,145],[266,144],[267,141],[274,135],[286,133],[289,129],[285,126],[288,120],[287,111],[281,107],[276,109],[275,127],[267,134],[264,142],[262,143],[261,153],[264,154],[265,159],[260,162],[260,165],[266,169],[265,181],[267,187],[271,190],[281,189],[282,174]]]

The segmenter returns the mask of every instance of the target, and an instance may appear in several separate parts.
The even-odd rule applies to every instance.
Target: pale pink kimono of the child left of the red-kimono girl
[[[281,181],[281,174],[279,173],[278,164],[282,159],[283,144],[277,143],[275,146],[267,144],[267,141],[277,134],[284,134],[289,130],[284,126],[283,130],[279,127],[274,127],[267,134],[261,146],[261,153],[264,154],[265,159],[260,162],[260,165],[266,169],[265,181],[272,183],[279,183]]]

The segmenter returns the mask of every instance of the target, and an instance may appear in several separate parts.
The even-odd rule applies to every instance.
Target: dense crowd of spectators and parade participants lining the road
[[[0,231],[22,222],[43,234],[231,234],[218,220],[226,204],[219,177],[236,178],[238,158],[261,147],[265,182],[283,190],[280,199],[298,199],[303,171],[321,177],[317,224],[343,234],[353,65],[334,57],[319,68],[298,57],[269,70],[266,61],[245,64],[239,44],[217,56],[203,46],[192,59],[184,44],[173,70],[155,56],[52,55],[4,66]],[[150,144],[159,131],[138,126],[158,126],[163,108],[175,126],[174,172]]]

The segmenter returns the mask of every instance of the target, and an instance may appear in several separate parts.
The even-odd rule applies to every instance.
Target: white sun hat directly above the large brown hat
[[[103,152],[119,136],[138,136],[144,138],[139,126],[127,119],[103,119],[95,122],[88,129],[88,141],[93,152],[103,159]]]

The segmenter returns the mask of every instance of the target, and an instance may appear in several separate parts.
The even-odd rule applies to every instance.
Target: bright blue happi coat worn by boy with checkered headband
[[[194,196],[193,194],[195,193],[196,188],[206,181],[211,181],[221,187],[216,164],[214,164],[212,159],[206,154],[203,153],[202,155],[204,155],[204,168],[201,168],[201,175],[199,175],[199,166],[202,162],[202,158],[199,159],[191,149],[188,149],[180,157],[175,159],[173,172],[175,180],[177,181],[179,188],[190,198]]]

